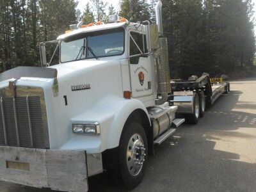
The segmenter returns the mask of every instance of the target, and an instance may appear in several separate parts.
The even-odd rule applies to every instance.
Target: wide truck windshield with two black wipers
[[[84,33],[61,41],[61,63],[124,53],[124,29]]]

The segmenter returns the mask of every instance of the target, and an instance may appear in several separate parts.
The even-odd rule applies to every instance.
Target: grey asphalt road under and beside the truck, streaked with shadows
[[[256,78],[231,83],[197,125],[182,125],[150,157],[134,191],[256,191]],[[91,191],[122,191],[105,174]],[[51,191],[0,182],[1,192]]]

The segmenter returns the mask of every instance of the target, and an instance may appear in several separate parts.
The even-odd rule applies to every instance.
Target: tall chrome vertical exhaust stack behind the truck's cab
[[[156,105],[164,104],[168,100],[168,93],[171,92],[170,67],[168,57],[167,38],[163,35],[162,2],[156,4],[156,23],[159,35],[159,55],[156,58],[157,67],[157,94],[161,98],[156,99]]]

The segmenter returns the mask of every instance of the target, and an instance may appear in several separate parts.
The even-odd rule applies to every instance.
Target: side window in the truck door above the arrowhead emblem
[[[136,54],[141,54],[141,52],[147,53],[148,50],[147,50],[146,36],[143,34],[140,34],[140,33],[135,33],[135,32],[131,32],[130,34],[131,34],[132,38],[134,39],[134,40],[132,40],[132,38],[130,38],[130,56],[133,56]],[[143,47],[143,38],[144,38],[144,47]],[[136,42],[138,47],[140,47],[140,49],[138,49],[138,47],[136,46],[134,41]],[[130,63],[138,64],[139,59],[140,59],[139,57],[130,58]]]

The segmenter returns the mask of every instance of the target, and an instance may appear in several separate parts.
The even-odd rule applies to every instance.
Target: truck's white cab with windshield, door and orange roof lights
[[[95,60],[104,61],[105,65],[118,63],[120,71],[114,76],[122,77],[119,82],[122,83],[122,91],[131,92],[131,98],[141,100],[146,108],[153,106],[157,86],[154,55],[150,54],[150,27],[130,23],[126,19],[81,27],[58,37],[60,63],[73,65],[76,61],[83,61],[84,65],[90,65]],[[154,32],[154,38],[158,38],[157,31]]]

